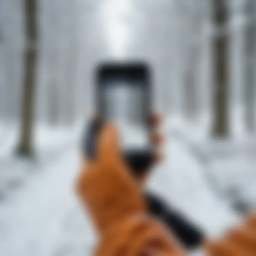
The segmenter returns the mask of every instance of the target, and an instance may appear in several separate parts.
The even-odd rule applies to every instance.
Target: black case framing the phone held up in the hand
[[[104,115],[102,114],[104,112],[104,105],[101,101],[101,85],[106,76],[110,74],[120,74],[122,76],[132,78],[136,78],[137,76],[143,77],[143,81],[145,83],[145,104],[143,106],[145,122],[147,122],[147,119],[151,113],[151,85],[148,65],[145,63],[105,63],[98,66],[96,72],[96,107],[99,119],[94,120],[89,124],[83,143],[84,153],[88,158],[91,159],[96,157],[96,138],[104,123],[104,118],[102,117]],[[145,125],[149,126],[149,123],[145,123]],[[128,166],[133,172],[145,171],[149,168],[152,161],[152,152],[150,148],[124,151],[122,154],[124,160],[127,162]]]

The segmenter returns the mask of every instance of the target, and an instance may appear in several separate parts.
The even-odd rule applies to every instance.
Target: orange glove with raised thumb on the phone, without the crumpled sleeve
[[[145,212],[145,204],[119,155],[119,138],[113,126],[102,128],[96,151],[95,160],[83,160],[76,188],[102,232],[124,215]]]

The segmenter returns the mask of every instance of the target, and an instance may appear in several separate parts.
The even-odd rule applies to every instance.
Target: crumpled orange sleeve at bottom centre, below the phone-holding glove
[[[177,241],[156,220],[130,215],[103,235],[96,256],[185,256]]]

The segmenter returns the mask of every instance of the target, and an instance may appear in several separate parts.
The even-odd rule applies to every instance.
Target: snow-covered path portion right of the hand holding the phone
[[[167,161],[152,176],[150,188],[201,225],[210,236],[218,236],[239,217],[210,190],[202,166],[179,138],[166,144]]]

